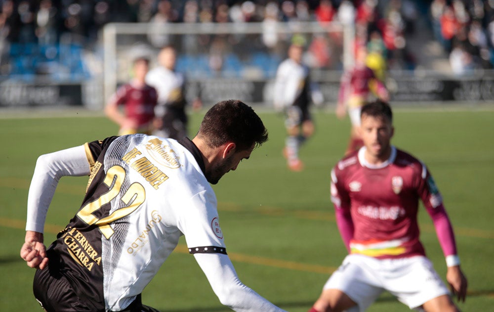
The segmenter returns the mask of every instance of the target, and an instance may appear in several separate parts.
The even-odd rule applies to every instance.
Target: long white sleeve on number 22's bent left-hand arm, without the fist
[[[38,157],[28,193],[26,230],[43,233],[46,213],[60,178],[89,174],[84,145]]]

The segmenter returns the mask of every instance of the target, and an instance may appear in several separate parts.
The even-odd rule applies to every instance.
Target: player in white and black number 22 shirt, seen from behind
[[[227,100],[208,110],[192,140],[130,134],[41,155],[20,252],[37,268],[36,299],[48,312],[157,311],[141,293],[184,235],[222,304],[283,311],[239,280],[210,185],[267,139],[252,108]],[[86,175],[81,208],[46,249],[43,226],[58,180]]]

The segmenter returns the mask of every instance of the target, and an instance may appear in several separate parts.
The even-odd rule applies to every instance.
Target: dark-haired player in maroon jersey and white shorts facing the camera
[[[331,171],[336,223],[350,254],[310,312],[365,311],[383,291],[410,309],[458,311],[419,240],[420,199],[446,257],[446,279],[464,301],[467,280],[434,179],[422,162],[391,145],[394,128],[387,103],[364,105],[361,120],[364,146]]]

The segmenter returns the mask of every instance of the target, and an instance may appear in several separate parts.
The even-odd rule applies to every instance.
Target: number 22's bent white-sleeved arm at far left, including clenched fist
[[[41,155],[28,193],[26,237],[20,256],[29,267],[43,269],[48,264],[43,244],[44,222],[58,181],[63,176],[89,175],[84,145]]]

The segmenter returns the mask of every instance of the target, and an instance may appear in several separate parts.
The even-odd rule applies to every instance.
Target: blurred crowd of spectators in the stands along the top
[[[150,28],[166,27],[172,23],[260,22],[266,29],[262,44],[272,53],[284,51],[277,49],[279,39],[269,31],[276,23],[354,23],[356,45],[367,45],[370,52],[378,53],[387,68],[410,70],[414,69],[416,62],[406,38],[415,32],[417,17],[424,8],[431,12],[437,39],[451,52],[452,59],[464,62],[462,68],[492,66],[486,54],[492,54],[494,42],[494,1],[0,0],[0,3],[0,75],[13,71],[13,62],[8,56],[12,57],[11,47],[14,45],[58,45],[64,35],[70,34],[81,46],[90,47],[97,42],[102,27],[110,22],[146,22],[150,23]],[[156,48],[169,44],[168,40],[162,35],[148,38]],[[334,53],[327,48],[327,41],[315,36],[308,42],[311,66],[341,69],[337,66],[341,60],[331,59]],[[207,45],[210,46],[209,53],[213,54],[211,66],[214,66],[218,44],[208,42]],[[461,57],[456,56],[458,49],[462,51]],[[52,55],[56,54],[52,52]],[[467,54],[471,55],[470,63],[465,60]],[[40,57],[49,60],[49,55]],[[453,63],[456,70],[458,66]]]

